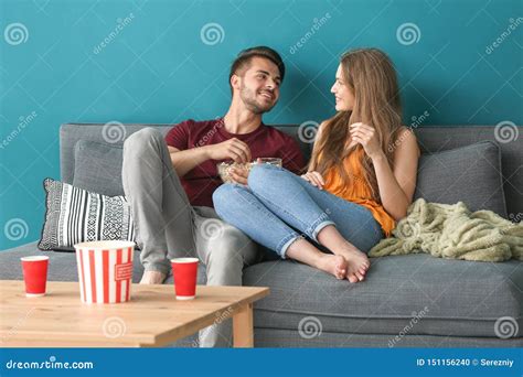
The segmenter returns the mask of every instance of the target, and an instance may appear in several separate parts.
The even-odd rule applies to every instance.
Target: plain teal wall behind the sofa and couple
[[[228,65],[252,45],[274,46],[288,67],[266,122],[332,115],[338,57],[375,46],[397,66],[405,122],[523,123],[521,0],[0,4],[0,249],[40,236],[42,180],[60,177],[61,123],[223,115]],[[212,23],[217,33],[202,37]]]

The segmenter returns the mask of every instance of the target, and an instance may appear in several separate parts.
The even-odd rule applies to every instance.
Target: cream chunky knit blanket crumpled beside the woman
[[[523,260],[523,223],[511,223],[492,211],[471,213],[462,202],[439,204],[418,198],[392,234],[369,256],[430,252],[476,261]]]

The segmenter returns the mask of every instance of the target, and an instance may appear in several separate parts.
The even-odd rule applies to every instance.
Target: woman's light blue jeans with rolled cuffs
[[[301,237],[318,243],[318,234],[334,225],[363,252],[383,238],[371,212],[278,166],[255,165],[248,186],[225,183],[213,194],[214,208],[225,222],[285,258],[289,246]]]

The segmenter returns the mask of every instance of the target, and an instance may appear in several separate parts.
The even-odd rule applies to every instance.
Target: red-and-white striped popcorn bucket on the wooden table
[[[76,244],[82,301],[118,303],[130,300],[135,243],[103,240]]]

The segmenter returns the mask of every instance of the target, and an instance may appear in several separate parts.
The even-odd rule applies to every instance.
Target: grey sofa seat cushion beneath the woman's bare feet
[[[371,259],[363,282],[351,284],[290,260],[247,268],[245,286],[266,286],[256,327],[327,333],[497,336],[501,317],[523,333],[523,263],[472,262],[427,255]],[[506,325],[506,324],[505,324]],[[514,323],[512,323],[512,328]],[[505,328],[506,330],[506,328]],[[501,331],[501,328],[499,328]]]

